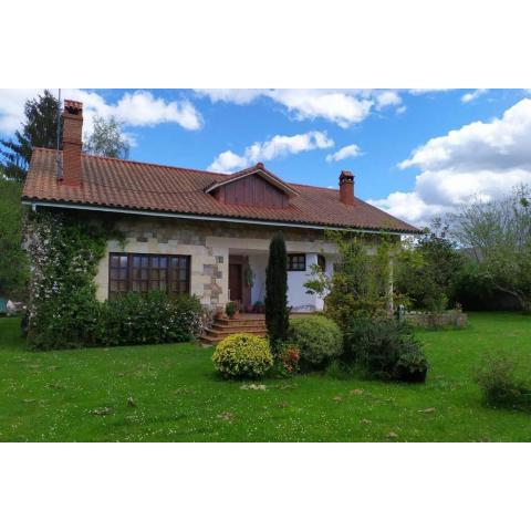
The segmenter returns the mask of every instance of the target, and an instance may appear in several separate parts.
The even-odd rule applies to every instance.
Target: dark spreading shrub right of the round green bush
[[[424,358],[413,326],[394,319],[352,317],[344,343],[345,361],[360,364],[368,375],[379,378],[399,378],[400,360],[402,366],[413,366]]]

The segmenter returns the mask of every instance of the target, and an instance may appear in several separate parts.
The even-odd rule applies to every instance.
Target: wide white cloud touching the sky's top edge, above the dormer
[[[238,105],[267,97],[284,106],[294,119],[322,118],[345,128],[363,122],[373,108],[402,103],[398,93],[392,90],[201,88],[196,93],[212,102]]]

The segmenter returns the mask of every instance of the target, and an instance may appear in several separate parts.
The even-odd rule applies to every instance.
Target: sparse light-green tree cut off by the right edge
[[[499,200],[478,199],[450,220],[483,279],[531,312],[531,188],[522,185]]]

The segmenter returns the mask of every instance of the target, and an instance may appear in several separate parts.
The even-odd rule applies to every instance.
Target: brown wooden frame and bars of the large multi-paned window
[[[113,261],[113,258],[114,257],[127,257],[127,266],[125,268],[113,268],[112,267],[112,261]],[[189,254],[159,254],[159,253],[148,253],[148,252],[110,252],[108,253],[108,287],[107,287],[107,298],[110,300],[113,300],[113,299],[116,299],[117,296],[121,296],[122,293],[129,293],[129,292],[133,292],[133,293],[147,293],[146,291],[135,291],[133,290],[133,282],[135,280],[137,281],[142,281],[143,279],[138,280],[138,279],[134,279],[133,278],[133,259],[134,257],[139,257],[140,258],[140,262],[142,262],[142,258],[148,258],[148,266],[147,266],[147,284],[148,284],[148,289],[147,289],[147,292],[149,291],[156,291],[156,290],[152,290],[150,289],[150,283],[153,281],[152,279],[152,259],[153,258],[164,258],[166,259],[166,268],[156,268],[157,270],[160,270],[160,269],[165,269],[166,270],[166,290],[160,290],[160,291],[165,291],[168,295],[175,295],[175,296],[178,296],[178,295],[184,295],[184,294],[187,294],[189,295],[190,294],[190,284],[191,284],[191,257]],[[175,280],[174,282],[177,282],[178,284],[180,284],[181,282],[186,282],[186,291],[184,292],[175,292],[175,291],[170,291],[170,283],[171,283],[171,280],[170,280],[170,272],[171,272],[171,259],[175,259],[175,258],[179,258],[179,259],[186,259],[187,261],[187,264],[186,264],[186,280],[185,281],[180,281],[180,280]],[[126,290],[125,291],[112,291],[111,290],[111,282],[113,280],[116,280],[116,279],[112,279],[112,272],[113,270],[117,269],[118,271],[121,269],[126,269],[127,273],[126,273],[126,278],[124,279],[125,280],[125,283],[126,283]],[[177,269],[178,271],[179,269]],[[122,279],[117,279],[118,281],[122,280]]]

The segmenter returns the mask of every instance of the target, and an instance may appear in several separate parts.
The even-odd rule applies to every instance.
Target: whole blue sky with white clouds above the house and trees
[[[31,93],[0,91],[0,133],[20,123]],[[496,197],[531,183],[531,95],[523,90],[64,95],[84,102],[87,131],[95,113],[123,122],[131,159],[229,173],[262,160],[288,181],[323,187],[350,169],[358,197],[417,225],[471,195]]]

